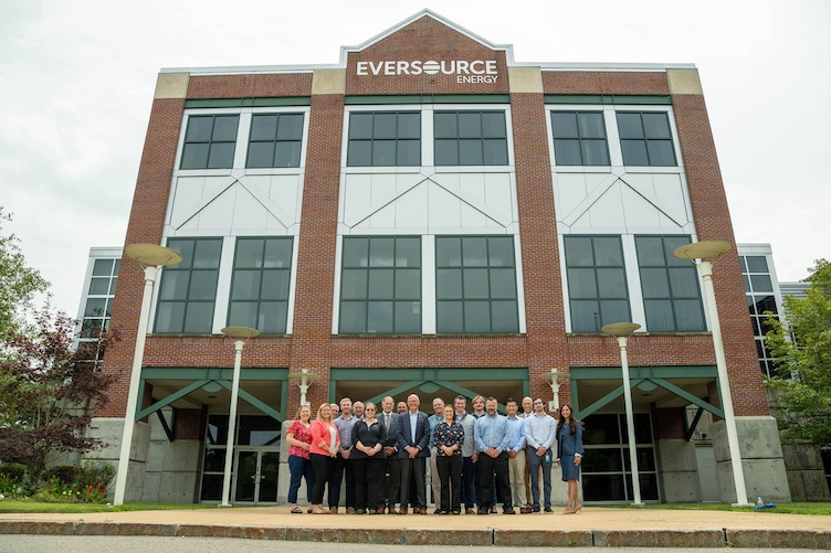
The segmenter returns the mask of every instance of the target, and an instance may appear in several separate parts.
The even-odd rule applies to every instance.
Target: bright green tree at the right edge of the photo
[[[785,442],[831,447],[831,263],[818,259],[806,280],[804,299],[787,296],[781,320],[768,317],[766,343],[781,374],[768,385]]]

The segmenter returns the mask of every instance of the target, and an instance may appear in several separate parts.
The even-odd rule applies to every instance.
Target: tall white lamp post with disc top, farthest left
[[[124,432],[122,434],[122,450],[118,455],[118,472],[115,478],[113,504],[124,503],[127,488],[127,471],[129,470],[130,446],[133,430],[136,425],[136,403],[138,402],[138,386],[141,383],[141,362],[145,357],[145,339],[147,338],[147,321],[150,318],[150,300],[152,287],[159,269],[168,265],[181,263],[181,255],[158,244],[130,244],[124,248],[128,257],[135,259],[145,270],[145,290],[141,296],[141,309],[138,315],[138,330],[136,331],[136,348],[133,352],[133,371],[127,395],[127,411],[124,414]]]

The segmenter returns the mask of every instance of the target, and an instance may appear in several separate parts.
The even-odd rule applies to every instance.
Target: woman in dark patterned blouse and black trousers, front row
[[[444,406],[444,421],[435,425],[433,443],[441,480],[441,504],[436,514],[462,512],[462,444],[464,429],[456,422],[453,405]]]

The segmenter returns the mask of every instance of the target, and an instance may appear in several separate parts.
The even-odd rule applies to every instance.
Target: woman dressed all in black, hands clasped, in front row
[[[355,512],[383,512],[383,472],[387,428],[376,417],[375,403],[364,407],[364,421],[353,425],[353,471],[355,472]]]

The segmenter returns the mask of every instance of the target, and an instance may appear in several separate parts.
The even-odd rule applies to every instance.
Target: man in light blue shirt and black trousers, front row
[[[478,475],[478,514],[487,514],[494,507],[493,481],[496,478],[496,491],[502,502],[504,514],[514,514],[511,502],[511,483],[508,481],[508,446],[511,429],[507,418],[496,412],[498,402],[488,397],[485,402],[485,415],[476,419],[474,442],[478,450],[476,474]]]

